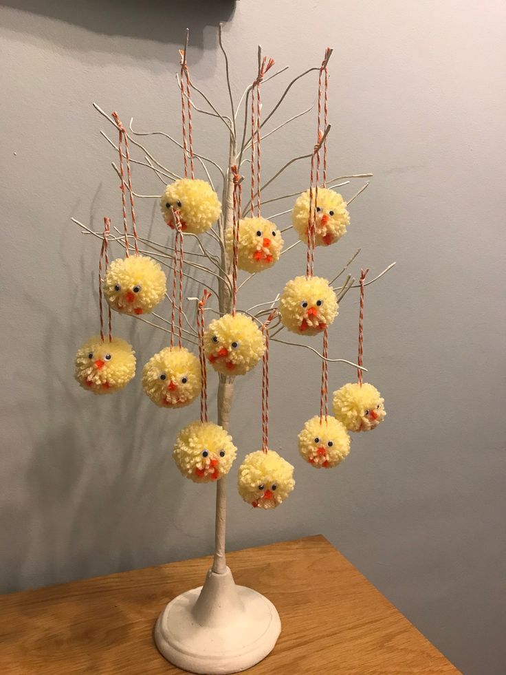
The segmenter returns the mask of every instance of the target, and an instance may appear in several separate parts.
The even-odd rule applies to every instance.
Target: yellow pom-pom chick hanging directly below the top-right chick
[[[279,301],[281,322],[292,333],[316,335],[338,315],[338,300],[327,279],[296,277]]]

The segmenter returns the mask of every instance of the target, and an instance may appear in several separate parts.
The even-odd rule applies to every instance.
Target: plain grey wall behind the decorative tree
[[[504,4],[120,5],[0,1],[1,588],[212,550],[214,491],[182,480],[169,452],[197,405],[177,415],[155,409],[138,378],[107,398],[72,379],[76,347],[96,330],[98,248],[69,219],[100,228],[109,213],[120,222],[115,156],[99,135],[107,122],[91,101],[133,116],[139,129],[179,134],[173,74],[190,25],[192,76],[224,108],[217,23],[225,21],[236,94],[254,76],[258,42],[290,66],[265,85],[266,109],[291,74],[336,47],[330,171],[375,178],[353,204],[347,236],[318,251],[318,270],[333,275],[358,246],[355,272],[398,261],[366,299],[366,365],[386,398],[386,422],[354,438],[339,469],[312,471],[295,441],[318,408],[318,359],[274,345],[271,444],[296,465],[297,487],[283,508],[257,513],[231,481],[228,545],[323,533],[464,672],[504,672]],[[314,96],[313,77],[270,128]],[[303,118],[274,134],[264,175],[306,151],[313,133],[314,118]],[[146,143],[181,169],[171,144]],[[214,120],[196,117],[195,145],[226,162]],[[305,189],[307,169],[294,164],[265,197]],[[134,180],[142,193],[161,189],[148,171],[135,169]],[[153,200],[137,211],[142,232],[164,241]],[[246,287],[241,305],[274,297],[303,258],[290,253]],[[355,292],[342,303],[332,356],[355,358],[357,301]],[[125,317],[115,325],[140,365],[166,339]],[[259,447],[259,376],[237,382],[232,433],[241,453]],[[331,386],[353,376],[333,365]]]

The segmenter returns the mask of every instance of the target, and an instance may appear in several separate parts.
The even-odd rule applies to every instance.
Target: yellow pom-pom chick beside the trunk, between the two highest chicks
[[[227,253],[232,259],[233,232],[225,233]],[[239,220],[239,255],[237,266],[246,272],[261,272],[279,260],[283,248],[283,237],[274,223],[265,218],[243,218]]]

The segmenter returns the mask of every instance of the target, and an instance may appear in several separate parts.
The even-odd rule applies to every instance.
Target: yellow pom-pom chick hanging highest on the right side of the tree
[[[316,246],[329,246],[346,234],[350,216],[342,196],[327,188],[318,188],[316,204]],[[299,239],[307,242],[309,222],[309,190],[303,192],[295,202],[292,211],[292,225]]]

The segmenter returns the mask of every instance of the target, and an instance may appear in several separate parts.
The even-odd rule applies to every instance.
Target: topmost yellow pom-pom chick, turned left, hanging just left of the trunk
[[[179,216],[181,230],[199,235],[217,221],[221,204],[209,183],[198,178],[181,178],[168,185],[160,197],[166,224],[174,228],[172,210]]]

